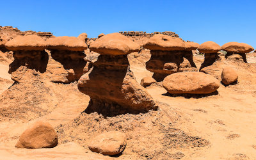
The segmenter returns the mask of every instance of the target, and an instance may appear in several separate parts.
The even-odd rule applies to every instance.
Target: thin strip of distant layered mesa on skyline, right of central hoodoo
[[[125,36],[154,36],[157,34],[161,34],[161,35],[179,37],[179,35],[177,35],[172,31],[153,32],[153,33],[146,33],[145,31],[120,31],[119,33]]]

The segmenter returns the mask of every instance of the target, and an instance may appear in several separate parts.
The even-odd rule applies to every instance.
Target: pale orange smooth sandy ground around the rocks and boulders
[[[200,65],[203,60],[203,56],[197,56],[196,65]],[[254,55],[248,58],[248,62],[255,63]],[[12,80],[8,74],[8,66],[0,65],[0,68],[0,78],[7,82],[6,84],[1,83],[0,92],[3,92],[12,85]],[[182,159],[256,159],[256,74],[252,72],[253,69],[256,69],[256,65],[250,68],[237,68],[239,74],[237,84],[230,86],[221,84],[216,94],[200,98],[172,97],[172,95],[166,94],[166,90],[161,87],[161,84],[147,88],[155,100],[168,104],[163,109],[170,108],[177,113],[182,113],[182,116],[175,122],[176,129],[209,141],[209,145],[200,148],[171,148],[171,153],[182,152],[184,154]],[[143,63],[131,63],[131,70],[138,83],[143,77],[152,75],[145,69]],[[52,87],[52,84],[45,85]],[[54,87],[57,88],[58,85],[56,84]],[[66,134],[60,134],[61,143],[55,148],[36,150],[15,148],[19,135],[29,124],[37,120],[45,120],[56,129],[65,129],[61,126],[68,126],[65,124],[73,122],[74,118],[84,111],[90,97],[75,92],[75,86],[67,86],[68,91],[61,93],[56,88],[52,89],[52,92],[61,94],[62,98],[68,97],[68,99],[60,100],[60,96],[56,96],[55,101],[58,102],[47,115],[29,121],[0,122],[0,159],[147,159],[140,156],[134,157],[133,154],[133,157],[129,158],[131,155],[128,151],[124,151],[124,155],[120,157],[94,154],[88,148],[77,143],[63,143],[62,136]],[[152,113],[152,115],[154,114],[157,112]],[[172,112],[170,111],[168,114],[171,115]],[[79,132],[76,134],[79,136]],[[67,137],[65,138],[67,139]],[[154,146],[152,147],[154,148]],[[145,149],[147,150],[147,148]]]

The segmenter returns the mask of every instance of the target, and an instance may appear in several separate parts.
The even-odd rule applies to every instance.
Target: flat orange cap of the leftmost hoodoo
[[[6,42],[5,47],[10,51],[18,50],[35,50],[42,51],[47,48],[47,44],[37,35],[16,36],[12,40]]]

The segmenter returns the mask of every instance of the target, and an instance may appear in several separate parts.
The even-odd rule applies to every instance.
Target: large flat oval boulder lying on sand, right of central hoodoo
[[[220,83],[202,72],[180,72],[165,77],[163,87],[172,94],[207,94],[216,91]]]

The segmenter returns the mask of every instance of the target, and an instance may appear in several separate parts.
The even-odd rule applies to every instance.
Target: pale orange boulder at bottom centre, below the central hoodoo
[[[126,135],[118,131],[109,131],[93,138],[89,144],[92,152],[113,156],[120,154],[126,147]]]

